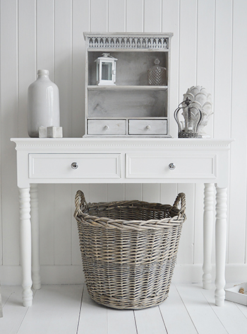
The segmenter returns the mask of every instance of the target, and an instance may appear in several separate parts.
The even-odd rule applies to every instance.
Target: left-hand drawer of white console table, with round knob
[[[120,154],[29,154],[30,178],[121,178]]]

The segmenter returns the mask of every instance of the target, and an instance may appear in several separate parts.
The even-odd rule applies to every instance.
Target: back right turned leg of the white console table
[[[204,213],[203,213],[203,289],[210,289],[212,282],[212,226],[215,185],[204,185]]]

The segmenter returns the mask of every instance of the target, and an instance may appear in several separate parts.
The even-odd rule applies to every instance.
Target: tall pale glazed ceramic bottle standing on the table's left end
[[[59,88],[47,69],[39,69],[37,80],[28,87],[28,135],[39,137],[39,127],[59,126]]]

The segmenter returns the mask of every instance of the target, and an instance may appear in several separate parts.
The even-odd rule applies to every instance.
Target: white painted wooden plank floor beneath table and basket
[[[214,289],[172,284],[160,306],[120,311],[96,304],[83,285],[42,285],[33,306],[21,305],[21,288],[2,286],[1,334],[246,334],[247,307],[214,304]]]

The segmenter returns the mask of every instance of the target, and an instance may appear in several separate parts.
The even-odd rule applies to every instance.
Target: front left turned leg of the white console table
[[[32,305],[32,263],[30,188],[19,188],[20,205],[20,260],[23,270],[23,306]]]

